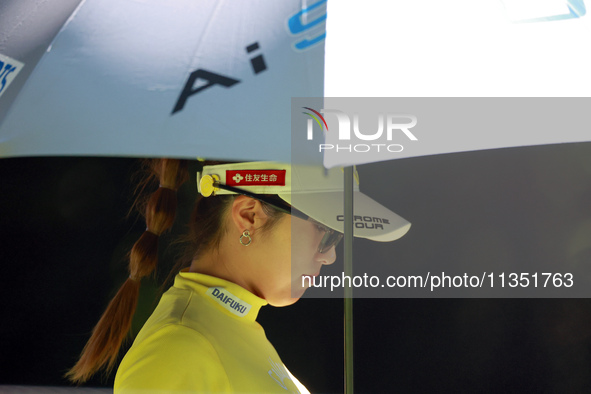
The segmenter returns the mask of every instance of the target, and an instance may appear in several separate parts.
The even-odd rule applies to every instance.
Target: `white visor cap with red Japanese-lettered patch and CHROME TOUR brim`
[[[330,170],[318,166],[291,165],[276,162],[248,162],[204,166],[197,173],[197,188],[203,193],[201,180],[209,175],[222,185],[233,186],[254,194],[276,194],[282,200],[312,219],[339,232],[344,232],[344,176],[341,168]],[[353,182],[354,235],[373,241],[394,241],[408,232],[410,223],[359,191],[359,177]],[[235,194],[215,189],[214,194]]]

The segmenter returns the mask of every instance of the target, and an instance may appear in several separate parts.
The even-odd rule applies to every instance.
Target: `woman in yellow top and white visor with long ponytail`
[[[158,235],[174,221],[185,164],[163,159],[153,168],[160,187],[146,207],[146,232],[131,252],[131,275],[70,372],[76,381],[115,363],[139,280],[154,270]],[[342,237],[335,231],[342,222],[339,175],[279,163],[204,166],[198,180],[204,198],[191,218],[190,265],[121,362],[115,392],[307,392],[255,319],[263,305],[297,301],[310,283],[304,279],[335,261]],[[386,240],[408,230],[404,219],[357,197],[381,228],[356,235]]]

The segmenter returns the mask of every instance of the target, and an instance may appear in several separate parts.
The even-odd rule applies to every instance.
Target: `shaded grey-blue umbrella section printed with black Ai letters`
[[[323,92],[326,1],[33,3],[3,5],[0,156],[289,161],[290,98]]]

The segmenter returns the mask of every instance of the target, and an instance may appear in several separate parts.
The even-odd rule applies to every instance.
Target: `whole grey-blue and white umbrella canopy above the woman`
[[[289,161],[289,100],[323,96],[325,75],[328,97],[587,96],[591,27],[584,3],[544,3],[556,5],[541,11],[570,20],[510,23],[507,15],[531,19],[525,3],[536,4],[339,1],[327,20],[326,0],[69,0],[52,10],[4,2],[0,156]],[[351,29],[351,20],[363,29]],[[402,119],[416,138],[398,133],[404,152],[362,160],[341,153],[325,164],[587,140],[583,101],[441,103],[389,105],[415,117]],[[316,110],[343,109],[330,105]],[[340,126],[334,115],[326,122]],[[334,137],[327,134],[333,145]]]

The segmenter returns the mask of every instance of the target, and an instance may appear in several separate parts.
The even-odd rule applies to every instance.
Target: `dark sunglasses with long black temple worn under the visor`
[[[324,236],[322,237],[322,240],[320,240],[320,244],[318,245],[318,253],[328,252],[330,250],[330,248],[332,248],[333,246],[337,246],[339,244],[339,242],[341,242],[341,239],[343,239],[343,233],[340,233],[336,230],[333,230],[330,227],[325,226],[322,223],[317,222],[316,220],[312,219],[310,216],[306,215],[302,211],[297,210],[296,208],[292,207],[291,205],[289,205],[285,202],[277,201],[278,199],[273,199],[273,198],[266,197],[266,196],[260,195],[260,194],[254,194],[249,191],[238,189],[233,186],[222,185],[218,181],[213,182],[213,187],[218,188],[218,189],[224,189],[224,190],[234,192],[237,194],[242,194],[243,196],[247,196],[250,198],[254,198],[255,200],[259,200],[259,201],[262,201],[266,204],[269,204],[270,206],[272,206],[273,208],[277,209],[280,212],[287,213],[289,215],[292,215],[292,216],[298,217],[300,219],[307,220],[309,222],[314,223],[314,225],[316,226],[316,228],[318,228],[318,230],[324,232]]]

